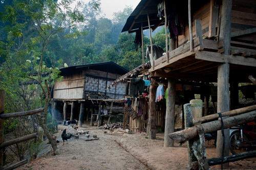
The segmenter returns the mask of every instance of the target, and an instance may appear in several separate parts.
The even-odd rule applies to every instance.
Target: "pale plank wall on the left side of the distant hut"
[[[54,99],[82,99],[84,77],[77,73],[63,77],[61,82],[54,84]]]

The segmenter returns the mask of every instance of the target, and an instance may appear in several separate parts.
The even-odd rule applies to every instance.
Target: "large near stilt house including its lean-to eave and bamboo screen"
[[[151,33],[160,26],[165,28],[166,46],[162,47],[165,53],[157,56],[157,44],[153,44]],[[146,53],[144,30],[149,31],[151,40]],[[168,134],[174,132],[176,103],[185,104],[195,98],[194,94],[200,94],[204,115],[208,114],[209,99],[217,103],[216,112],[236,109],[239,83],[251,83],[248,76],[256,77],[256,1],[141,0],[122,32],[136,33],[136,43],[143,48],[143,63],[112,85],[126,82],[127,86],[134,86],[139,78],[150,81],[148,91],[141,91],[136,98],[132,94],[126,96],[131,104],[124,109],[124,128],[134,132],[146,129],[148,137],[155,139],[157,127],[164,127],[164,147],[173,147]],[[146,55],[150,63],[144,63]],[[156,102],[160,85],[168,88],[166,105]],[[254,92],[255,86],[250,91],[255,99]],[[142,103],[148,109],[146,115],[140,114],[142,117],[138,116],[142,105],[138,101],[144,100],[146,103]],[[224,133],[228,140],[229,130]],[[229,141],[224,146],[221,141],[218,138],[219,157],[222,149],[225,156],[229,154]]]

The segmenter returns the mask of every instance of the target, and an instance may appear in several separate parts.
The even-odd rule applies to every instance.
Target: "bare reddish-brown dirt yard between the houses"
[[[62,130],[66,126],[59,126],[59,132],[55,134],[58,143],[56,156],[51,153],[36,158],[34,161],[18,168],[27,169],[186,169],[188,162],[187,148],[185,145],[179,147],[163,147],[163,133],[157,133],[157,139],[146,139],[145,134],[104,134],[102,128],[83,125],[83,131],[90,131],[92,138],[97,135],[99,140],[84,141],[86,136],[81,135],[79,139],[70,139],[68,144],[61,140]],[[72,132],[70,130],[68,132]],[[212,142],[206,142],[207,158],[216,156],[216,149]],[[49,144],[45,145],[47,153]],[[231,162],[229,169],[256,169],[256,158]],[[215,166],[211,166],[216,169]]]

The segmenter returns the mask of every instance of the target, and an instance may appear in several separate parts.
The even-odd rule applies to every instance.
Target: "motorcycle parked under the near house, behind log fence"
[[[229,150],[232,154],[239,154],[256,149],[256,133],[253,123],[249,125],[238,125],[229,129]]]

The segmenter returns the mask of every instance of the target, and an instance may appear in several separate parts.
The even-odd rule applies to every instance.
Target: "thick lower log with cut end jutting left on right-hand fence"
[[[223,119],[223,123],[224,128],[226,129],[244,123],[252,122],[254,120],[256,120],[256,110],[241,115],[236,115],[233,117],[228,117],[226,119]],[[215,120],[213,122],[205,123],[200,126],[203,127],[204,133],[217,131],[221,129],[221,120]],[[177,143],[183,143],[189,139],[195,138],[197,134],[198,126],[194,126],[182,131],[171,133],[169,134],[169,137],[172,138]]]

